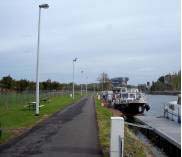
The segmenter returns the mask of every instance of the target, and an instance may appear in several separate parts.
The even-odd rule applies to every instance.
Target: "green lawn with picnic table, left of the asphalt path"
[[[9,97],[9,99],[8,99]],[[37,122],[50,116],[52,113],[65,108],[73,103],[72,98],[68,95],[51,96],[49,102],[41,103],[44,105],[40,108],[40,115],[35,116],[35,111],[29,111],[24,106],[32,101],[32,95],[4,95],[2,99],[7,99],[4,104],[2,99],[0,102],[0,124],[3,129],[0,137],[0,143],[4,143],[14,136],[21,134],[25,129],[31,128]],[[80,95],[75,95],[75,100],[78,101]]]

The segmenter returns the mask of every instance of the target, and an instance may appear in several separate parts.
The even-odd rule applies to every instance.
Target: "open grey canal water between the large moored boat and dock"
[[[150,110],[145,111],[145,115],[150,116],[162,116],[163,115],[163,106],[169,101],[177,100],[177,96],[171,95],[147,95],[147,101],[150,105]]]

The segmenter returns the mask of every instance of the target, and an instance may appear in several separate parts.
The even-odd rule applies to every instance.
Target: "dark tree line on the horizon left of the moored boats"
[[[87,84],[88,91],[99,91],[102,89],[108,89],[110,82],[107,74],[101,74],[99,76],[99,83],[89,83]],[[52,81],[48,79],[39,83],[40,90],[72,90],[73,83],[60,83],[57,81]],[[0,79],[0,92],[7,91],[33,91],[36,88],[36,83],[34,81],[29,81],[27,79],[16,80],[10,75],[2,77]],[[81,90],[81,84],[75,84],[75,90]],[[82,90],[86,90],[86,84],[82,84]]]

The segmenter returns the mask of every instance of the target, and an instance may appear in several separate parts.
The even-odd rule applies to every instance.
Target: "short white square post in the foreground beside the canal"
[[[123,157],[124,154],[124,119],[111,117],[110,157]]]

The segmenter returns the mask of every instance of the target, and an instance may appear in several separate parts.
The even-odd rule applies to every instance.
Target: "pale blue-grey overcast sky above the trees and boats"
[[[2,0],[0,77],[35,80],[42,3],[41,80],[71,82],[74,57],[77,83],[106,72],[138,84],[180,70],[180,0]]]

